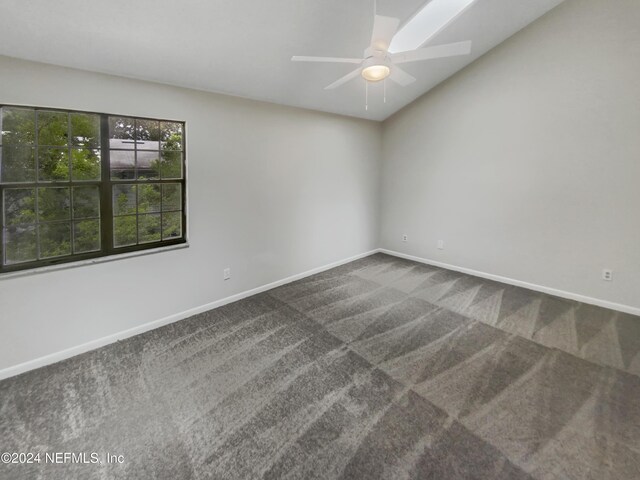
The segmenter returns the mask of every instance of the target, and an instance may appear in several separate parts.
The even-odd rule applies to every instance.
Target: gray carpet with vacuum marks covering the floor
[[[2,479],[640,478],[640,318],[381,254],[0,382]]]

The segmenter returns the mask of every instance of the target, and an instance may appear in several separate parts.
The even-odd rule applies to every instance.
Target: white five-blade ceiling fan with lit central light
[[[398,18],[376,15],[373,23],[371,44],[364,51],[364,58],[294,56],[291,57],[291,60],[294,62],[353,63],[358,65],[357,69],[325,87],[325,90],[332,90],[353,80],[359,75],[367,82],[379,82],[388,77],[389,80],[404,87],[415,82],[416,79],[398,67],[398,65],[434,58],[468,55],[471,53],[470,41],[390,53],[389,46],[398,31],[399,25],[400,19]]]

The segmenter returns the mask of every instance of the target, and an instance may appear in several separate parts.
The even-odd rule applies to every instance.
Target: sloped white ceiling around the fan
[[[472,40],[469,57],[403,67],[418,81],[326,91],[353,70],[293,55],[361,57],[373,0],[0,0],[0,54],[383,120],[563,0],[477,0],[429,45]],[[425,0],[378,0],[406,22]],[[0,90],[0,95],[2,94]],[[1,99],[0,99],[1,100]]]

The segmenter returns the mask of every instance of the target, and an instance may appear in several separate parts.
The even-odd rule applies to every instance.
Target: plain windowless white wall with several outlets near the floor
[[[640,307],[638,0],[566,1],[383,145],[382,247]]]

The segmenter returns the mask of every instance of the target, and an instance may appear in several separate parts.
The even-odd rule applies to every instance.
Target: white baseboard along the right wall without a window
[[[621,303],[609,302],[607,300],[601,300],[599,298],[587,297],[578,293],[566,292],[564,290],[557,290],[555,288],[545,287],[542,285],[536,285],[534,283],[523,282],[521,280],[515,280],[513,278],[501,277],[500,275],[493,275],[491,273],[479,272],[478,270],[472,270],[470,268],[458,267],[457,265],[450,265],[448,263],[437,262],[435,260],[429,260],[427,258],[415,257],[413,255],[407,255],[405,253],[395,252],[393,250],[387,250],[385,248],[379,248],[379,252],[392,255],[394,257],[404,258],[406,260],[413,260],[414,262],[424,263],[426,265],[432,265],[434,267],[445,268],[447,270],[454,270],[460,273],[466,273],[475,277],[486,278],[488,280],[494,280],[500,283],[506,283],[508,285],[514,285],[516,287],[527,288],[529,290],[535,290],[536,292],[548,293],[549,295],[555,295],[556,297],[567,298],[569,300],[575,300],[582,303],[588,303],[590,305],[596,305],[598,307],[608,308],[623,313],[629,313],[631,315],[640,316],[640,308],[632,307],[630,305],[623,305]]]

